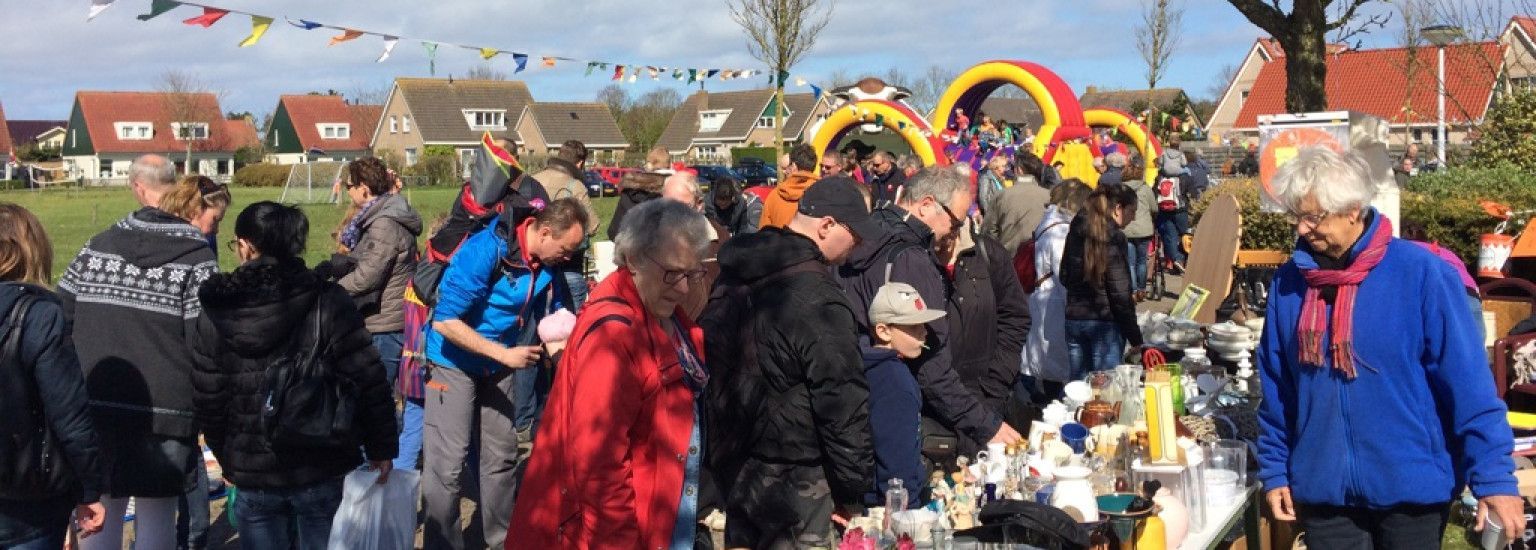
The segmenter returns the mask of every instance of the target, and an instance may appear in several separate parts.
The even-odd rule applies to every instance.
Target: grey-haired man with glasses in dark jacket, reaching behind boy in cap
[[[958,237],[965,227],[960,217],[971,209],[971,183],[949,167],[925,167],[906,184],[902,201],[872,214],[885,226],[885,235],[865,240],[848,264],[839,270],[839,281],[854,303],[860,338],[868,343],[869,318],[865,312],[876,292],[889,281],[911,284],[929,304],[945,304],[951,293],[943,264],[934,257],[934,240]],[[923,390],[923,416],[938,419],[948,430],[969,438],[977,446],[986,442],[1017,442],[1018,432],[982,404],[962,383],[951,366],[949,321],[928,324],[929,350],[914,363],[917,386]],[[946,453],[925,441],[931,459],[948,464]]]

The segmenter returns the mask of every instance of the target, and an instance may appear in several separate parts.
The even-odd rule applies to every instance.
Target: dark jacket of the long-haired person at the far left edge
[[[23,359],[20,369],[6,367],[0,375],[23,375],[28,379],[6,379],[0,384],[3,392],[0,399],[26,403],[28,393],[37,396],[37,403],[43,407],[40,421],[54,433],[58,450],[65,453],[75,492],[40,501],[0,499],[0,547],[35,539],[46,530],[58,527],[68,521],[69,510],[75,504],[95,502],[104,489],[101,449],[86,409],[84,378],[80,375],[80,361],[65,332],[65,315],[58,298],[41,287],[0,283],[0,341],[6,330],[11,330],[5,326],[5,320],[23,293],[37,297],[18,329],[22,338],[18,353]],[[9,358],[0,359],[9,361]],[[22,384],[34,387],[23,392]],[[14,419],[8,419],[11,421]]]

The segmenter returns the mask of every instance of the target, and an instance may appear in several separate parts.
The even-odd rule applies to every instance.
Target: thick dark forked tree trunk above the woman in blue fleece
[[[1329,6],[1336,6],[1335,15]],[[1279,0],[1227,0],[1243,17],[1269,32],[1286,51],[1286,111],[1324,111],[1329,104],[1322,84],[1327,80],[1327,35],[1335,40],[1350,40],[1370,28],[1385,25],[1387,15],[1373,14],[1356,20],[1359,8],[1381,0],[1295,0],[1290,14],[1279,8]],[[1342,31],[1341,31],[1342,29]]]

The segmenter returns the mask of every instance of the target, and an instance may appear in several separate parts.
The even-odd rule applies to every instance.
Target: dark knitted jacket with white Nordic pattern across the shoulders
[[[203,312],[197,289],[217,269],[203,232],[144,207],[92,237],[65,270],[58,298],[98,429],[197,436],[187,343]]]

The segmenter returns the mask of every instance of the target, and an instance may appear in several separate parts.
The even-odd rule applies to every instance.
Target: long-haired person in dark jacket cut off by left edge
[[[32,212],[0,203],[0,412],[8,433],[0,447],[11,459],[43,450],[48,433],[61,456],[41,472],[0,484],[0,548],[57,550],[65,545],[69,513],[81,536],[101,530],[101,447],[86,409],[80,359],[65,333],[58,297],[46,289],[54,249]],[[23,309],[25,307],[25,309]],[[14,346],[14,347],[12,347]],[[14,361],[11,353],[15,353]],[[14,361],[14,363],[12,363]],[[34,481],[25,490],[23,481]]]

